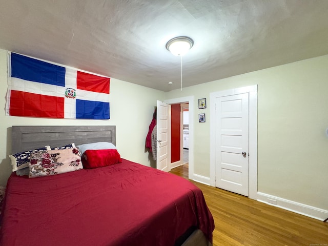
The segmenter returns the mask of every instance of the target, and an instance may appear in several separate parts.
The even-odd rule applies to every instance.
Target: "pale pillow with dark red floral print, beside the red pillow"
[[[67,173],[83,169],[77,148],[31,153],[29,178]]]

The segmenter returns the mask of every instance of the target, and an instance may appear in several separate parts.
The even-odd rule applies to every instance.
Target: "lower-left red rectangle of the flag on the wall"
[[[64,118],[64,97],[10,91],[9,115]]]

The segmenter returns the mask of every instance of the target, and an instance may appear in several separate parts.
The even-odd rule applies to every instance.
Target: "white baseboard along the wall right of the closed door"
[[[322,221],[328,217],[328,210],[315,208],[306,204],[268,195],[262,192],[257,192],[257,200],[281,209],[289,210]]]

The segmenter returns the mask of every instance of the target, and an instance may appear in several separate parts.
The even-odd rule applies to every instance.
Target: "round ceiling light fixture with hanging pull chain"
[[[182,91],[182,55],[185,55],[194,45],[194,40],[190,37],[180,36],[169,40],[166,48],[173,55],[181,57],[181,91]]]

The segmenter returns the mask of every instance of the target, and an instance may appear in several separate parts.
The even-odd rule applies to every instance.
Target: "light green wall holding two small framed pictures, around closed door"
[[[328,209],[328,55],[167,93],[195,96],[195,173],[210,176],[210,93],[250,85],[258,85],[258,191]]]

